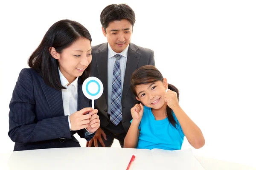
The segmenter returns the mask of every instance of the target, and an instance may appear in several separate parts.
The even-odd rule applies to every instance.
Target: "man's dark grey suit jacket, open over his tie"
[[[122,125],[127,132],[131,123],[131,108],[137,99],[130,89],[131,74],[143,65],[155,65],[154,51],[130,43],[125,68],[125,77],[122,90]],[[96,108],[100,125],[106,127],[108,119],[108,43],[92,47],[91,76],[99,78],[104,86],[103,95],[97,100]]]

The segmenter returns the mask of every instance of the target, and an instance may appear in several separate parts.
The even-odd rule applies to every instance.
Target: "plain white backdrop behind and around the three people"
[[[112,3],[134,9],[131,42],[154,50],[157,68],[180,90],[180,105],[201,128],[206,143],[193,153],[256,166],[254,0],[1,1],[0,152],[14,146],[7,133],[17,77],[49,27],[76,20],[90,31],[92,45],[106,42],[100,13]]]

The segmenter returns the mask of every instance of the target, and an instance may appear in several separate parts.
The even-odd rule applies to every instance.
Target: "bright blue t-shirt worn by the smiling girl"
[[[144,113],[139,125],[140,135],[137,148],[180,150],[185,135],[175,114],[172,113],[172,115],[177,122],[176,128],[167,117],[163,120],[155,120],[151,108],[144,106]]]

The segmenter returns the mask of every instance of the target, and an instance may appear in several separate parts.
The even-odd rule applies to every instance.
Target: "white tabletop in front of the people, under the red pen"
[[[136,158],[130,170],[191,169],[186,167],[187,165],[201,166],[198,168],[205,170],[256,170],[241,164],[193,156],[191,150],[177,152],[156,150],[152,156],[150,150],[116,147],[17,151],[1,155],[0,170],[126,170],[133,154]]]

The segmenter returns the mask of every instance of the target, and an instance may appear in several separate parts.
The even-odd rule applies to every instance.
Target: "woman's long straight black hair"
[[[49,50],[54,47],[58,53],[61,53],[64,48],[72,45],[80,37],[92,41],[89,31],[80,23],[71,20],[58,21],[49,28],[38,48],[29,57],[29,67],[38,71],[50,87],[57,90],[63,89],[59,78],[58,60],[52,57]],[[90,64],[80,76],[80,82],[83,83],[89,74]]]

